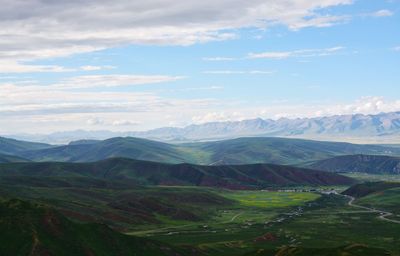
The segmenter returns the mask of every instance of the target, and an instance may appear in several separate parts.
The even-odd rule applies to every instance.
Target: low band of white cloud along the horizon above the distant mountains
[[[204,87],[207,88],[207,87]],[[201,89],[194,88],[193,89]],[[400,100],[364,97],[328,104],[288,100],[243,102],[233,99],[164,98],[132,91],[76,91],[57,86],[0,84],[0,133],[76,130],[132,131],[252,118],[295,118],[400,111]],[[140,121],[140,122],[137,122]],[[29,126],[26,124],[29,123]]]

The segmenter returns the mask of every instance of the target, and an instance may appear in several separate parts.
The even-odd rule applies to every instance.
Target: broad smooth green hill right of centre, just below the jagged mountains
[[[398,149],[374,145],[321,142],[286,138],[239,138],[226,141],[191,144],[209,152],[211,163],[279,163],[300,164],[337,155],[357,153],[384,154]]]

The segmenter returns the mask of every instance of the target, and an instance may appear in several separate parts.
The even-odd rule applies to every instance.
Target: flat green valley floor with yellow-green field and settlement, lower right
[[[238,199],[244,208],[222,211],[201,225],[154,230],[145,236],[180,247],[194,246],[208,255],[234,256],[256,251],[275,255],[276,248],[282,246],[324,250],[350,245],[369,248],[363,247],[364,254],[360,255],[387,255],[384,250],[372,248],[400,255],[400,225],[348,206],[348,199],[343,196],[279,192],[237,192],[228,196]],[[263,199],[268,202],[279,198],[282,200],[278,204],[262,204]],[[310,202],[311,199],[316,200]]]

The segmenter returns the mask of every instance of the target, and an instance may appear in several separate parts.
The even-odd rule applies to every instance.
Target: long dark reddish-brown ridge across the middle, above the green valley
[[[114,158],[94,163],[0,164],[0,176],[86,177],[140,185],[261,189],[292,185],[348,185],[338,174],[272,164],[200,166]]]

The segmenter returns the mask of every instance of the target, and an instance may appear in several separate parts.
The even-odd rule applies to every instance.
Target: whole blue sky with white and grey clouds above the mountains
[[[400,111],[400,0],[0,0],[0,134]]]

